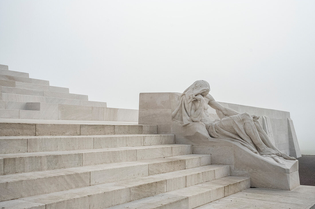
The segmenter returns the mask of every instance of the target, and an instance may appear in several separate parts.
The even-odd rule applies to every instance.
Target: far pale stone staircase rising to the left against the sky
[[[29,78],[25,72],[0,65],[0,118],[87,121],[138,121],[138,110],[107,108],[88,95]]]

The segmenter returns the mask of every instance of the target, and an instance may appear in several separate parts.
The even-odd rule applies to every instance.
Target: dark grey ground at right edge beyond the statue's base
[[[315,186],[315,155],[302,155],[299,160],[300,184]]]

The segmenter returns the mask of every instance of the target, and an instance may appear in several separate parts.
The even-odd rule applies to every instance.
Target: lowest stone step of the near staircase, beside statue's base
[[[227,176],[112,206],[108,209],[192,209],[249,187],[250,179],[248,177]]]

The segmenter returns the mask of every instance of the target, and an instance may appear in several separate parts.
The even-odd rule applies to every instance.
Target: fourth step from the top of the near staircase
[[[0,176],[0,193],[2,194],[0,201],[190,169],[209,164],[211,164],[210,155],[188,154],[151,160],[4,175]],[[228,166],[220,168],[212,166],[211,168],[216,169],[218,172],[221,168],[226,174],[229,171]],[[204,168],[204,170],[204,172],[209,172],[209,169]],[[124,175],[121,175],[121,173]]]

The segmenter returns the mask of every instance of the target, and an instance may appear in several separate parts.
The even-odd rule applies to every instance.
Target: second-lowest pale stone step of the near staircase
[[[226,165],[222,167],[228,168]],[[25,208],[25,206],[33,204],[29,208],[35,208],[35,206],[45,204],[46,208],[106,208],[186,186],[190,187],[201,182],[215,180],[217,176],[215,174],[216,170],[222,170],[222,167],[220,165],[208,165],[24,197],[18,200],[0,202],[0,207],[17,208],[19,206],[20,208]],[[225,170],[229,171],[229,169]]]

